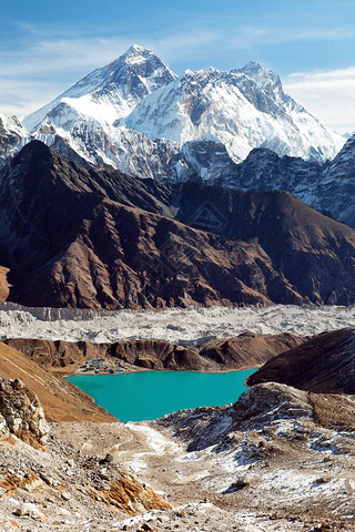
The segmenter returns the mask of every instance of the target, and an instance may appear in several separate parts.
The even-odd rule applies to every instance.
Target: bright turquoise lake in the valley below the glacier
[[[227,374],[138,371],[120,375],[74,375],[68,380],[93,397],[121,421],[156,419],[183,408],[235,402],[254,369]]]

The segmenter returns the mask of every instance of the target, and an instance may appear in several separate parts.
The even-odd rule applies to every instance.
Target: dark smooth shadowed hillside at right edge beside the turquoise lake
[[[355,393],[354,329],[323,332],[270,360],[247,383],[282,382],[313,392]]]

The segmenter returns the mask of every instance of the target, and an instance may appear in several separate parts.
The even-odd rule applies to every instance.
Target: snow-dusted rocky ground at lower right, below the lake
[[[53,431],[74,450],[111,452],[169,493],[173,512],[126,520],[130,532],[146,522],[156,531],[354,530],[351,396],[260,385],[233,406],[125,423],[124,432],[120,424],[91,429],[61,423]]]

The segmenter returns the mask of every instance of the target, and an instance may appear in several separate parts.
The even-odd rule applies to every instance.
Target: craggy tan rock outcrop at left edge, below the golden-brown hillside
[[[0,428],[33,444],[44,443],[49,433],[42,406],[20,379],[0,377]]]

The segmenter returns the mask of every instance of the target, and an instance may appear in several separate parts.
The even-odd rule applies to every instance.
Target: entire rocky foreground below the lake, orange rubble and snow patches
[[[50,423],[42,450],[3,433],[0,525],[349,532],[354,409],[351,396],[266,383],[153,422]]]

